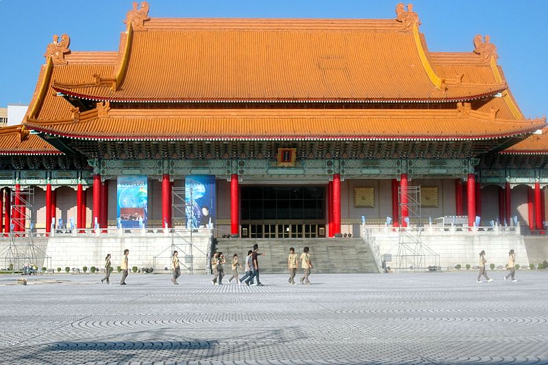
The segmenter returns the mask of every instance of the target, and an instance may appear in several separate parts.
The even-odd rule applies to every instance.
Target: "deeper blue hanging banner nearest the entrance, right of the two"
[[[186,176],[185,200],[187,228],[212,227],[216,212],[215,176]]]

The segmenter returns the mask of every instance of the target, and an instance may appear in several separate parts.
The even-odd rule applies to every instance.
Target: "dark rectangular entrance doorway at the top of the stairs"
[[[242,238],[325,237],[325,186],[242,186]]]

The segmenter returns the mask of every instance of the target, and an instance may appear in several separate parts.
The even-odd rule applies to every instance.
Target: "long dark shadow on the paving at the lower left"
[[[199,340],[149,340],[154,338],[185,337],[173,329],[120,333],[103,337],[103,341],[60,341],[34,346],[14,346],[0,350],[4,358],[18,364],[54,364],[57,362],[134,362],[134,361],[199,361],[199,360],[243,360],[247,353],[273,344],[284,344],[287,331],[298,331],[297,327],[284,330],[257,331],[238,338]],[[98,334],[100,336],[100,334]],[[124,340],[114,340],[119,338]],[[112,338],[113,341],[109,341]],[[247,359],[249,360],[249,359]]]

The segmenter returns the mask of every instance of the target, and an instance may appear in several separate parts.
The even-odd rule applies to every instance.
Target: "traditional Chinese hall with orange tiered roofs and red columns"
[[[364,20],[148,12],[127,13],[117,51],[54,36],[25,123],[0,130],[1,183],[38,188],[36,228],[115,226],[120,176],[147,176],[148,224],[171,226],[172,189],[207,175],[218,237],[406,225],[408,186],[425,221],[543,231],[545,118],[523,116],[488,36],[429,51],[403,4]]]

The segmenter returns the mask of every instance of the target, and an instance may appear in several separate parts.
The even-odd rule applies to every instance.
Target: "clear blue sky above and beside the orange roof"
[[[152,17],[393,19],[398,1],[150,0]],[[412,2],[431,51],[472,51],[473,36],[497,45],[510,90],[528,118],[547,114],[548,32],[545,1]],[[53,34],[73,51],[115,51],[132,1],[0,0],[0,107],[27,104]]]

